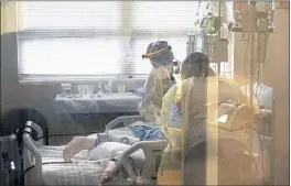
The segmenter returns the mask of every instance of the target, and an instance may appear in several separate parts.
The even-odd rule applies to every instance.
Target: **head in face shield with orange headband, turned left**
[[[174,54],[166,41],[150,43],[142,58],[150,59],[159,79],[168,78],[172,73]]]

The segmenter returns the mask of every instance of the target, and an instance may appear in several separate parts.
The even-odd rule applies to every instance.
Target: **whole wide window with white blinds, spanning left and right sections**
[[[141,55],[166,40],[186,55],[198,1],[21,1],[18,7],[20,80],[147,75]]]

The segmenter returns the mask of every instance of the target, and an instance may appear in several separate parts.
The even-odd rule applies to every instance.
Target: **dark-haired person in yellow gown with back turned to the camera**
[[[169,139],[158,175],[158,185],[182,185],[182,134],[188,133],[187,143],[191,147],[207,140],[206,123],[217,116],[207,113],[207,107],[217,106],[217,102],[207,102],[207,99],[218,96],[218,101],[234,100],[246,102],[240,88],[231,80],[217,77],[209,70],[208,57],[203,53],[190,54],[182,64],[182,83],[174,85],[164,96],[161,111],[161,124]],[[218,85],[212,91],[208,87]],[[182,109],[182,100],[188,110]],[[184,107],[183,107],[184,108]],[[184,124],[182,113],[187,112],[188,131],[182,131]]]

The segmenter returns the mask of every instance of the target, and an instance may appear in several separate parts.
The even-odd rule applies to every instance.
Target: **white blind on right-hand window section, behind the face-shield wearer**
[[[186,57],[186,39],[195,29],[197,1],[132,1],[129,6],[132,26],[131,56],[134,62],[141,61],[147,46],[159,40],[168,41],[174,56],[182,61]],[[142,61],[141,61],[142,62]],[[136,68],[137,73],[150,69],[148,61]]]

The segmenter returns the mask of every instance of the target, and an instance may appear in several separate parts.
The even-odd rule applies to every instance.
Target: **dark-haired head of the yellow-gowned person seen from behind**
[[[206,78],[215,76],[214,70],[209,67],[208,57],[200,52],[187,55],[181,67],[182,79],[191,77]]]

